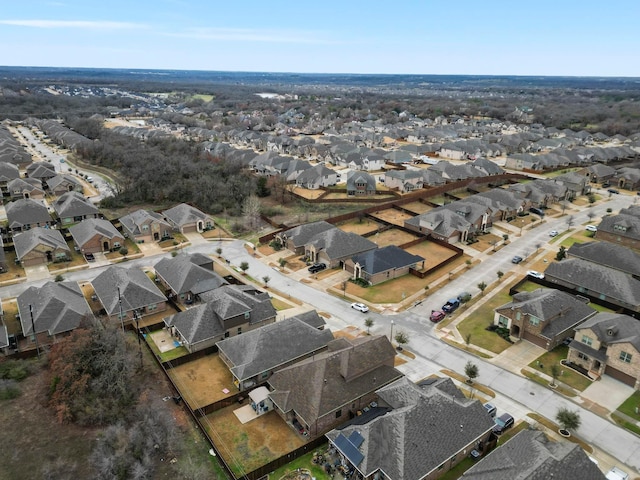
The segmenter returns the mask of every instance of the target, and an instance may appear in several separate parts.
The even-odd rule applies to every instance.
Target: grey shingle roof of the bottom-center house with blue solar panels
[[[383,471],[394,480],[415,480],[434,472],[453,455],[488,434],[493,420],[478,400],[452,397],[440,383],[418,387],[406,377],[377,390],[379,404],[392,410],[364,425],[332,430],[332,441],[358,432],[363,455],[356,465],[365,477]],[[454,387],[455,388],[455,387]]]

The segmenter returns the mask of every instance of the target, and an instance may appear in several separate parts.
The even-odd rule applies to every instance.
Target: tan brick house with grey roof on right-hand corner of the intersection
[[[595,314],[596,310],[573,295],[539,288],[516,293],[511,302],[496,308],[493,324],[508,329],[513,338],[551,351]]]

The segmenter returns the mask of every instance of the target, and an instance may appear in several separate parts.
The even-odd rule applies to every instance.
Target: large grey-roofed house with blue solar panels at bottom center
[[[451,379],[420,387],[403,377],[375,393],[373,409],[326,434],[357,478],[434,480],[489,450],[493,419]]]

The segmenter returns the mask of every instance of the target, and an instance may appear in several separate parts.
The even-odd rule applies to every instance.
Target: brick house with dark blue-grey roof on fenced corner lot
[[[424,258],[395,245],[388,245],[351,257],[345,262],[344,268],[354,280],[361,278],[370,285],[377,285],[402,277],[411,269],[423,269]]]

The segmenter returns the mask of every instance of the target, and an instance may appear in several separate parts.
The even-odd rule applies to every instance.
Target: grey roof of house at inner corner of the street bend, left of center
[[[213,270],[198,265],[200,260],[200,256],[192,255],[163,258],[155,265],[156,274],[178,295],[187,292],[199,295],[228,283]]]

